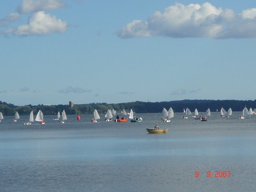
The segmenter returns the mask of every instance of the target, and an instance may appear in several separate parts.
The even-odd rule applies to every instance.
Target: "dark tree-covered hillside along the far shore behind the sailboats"
[[[0,112],[4,116],[12,116],[17,111],[20,115],[29,115],[31,110],[34,113],[38,110],[42,110],[44,115],[54,115],[58,111],[62,112],[65,109],[66,114],[93,114],[94,109],[97,109],[99,113],[106,113],[108,109],[115,109],[117,112],[121,112],[122,109],[132,109],[136,113],[159,113],[163,108],[167,110],[172,107],[174,112],[183,112],[183,108],[189,108],[194,111],[195,108],[199,112],[204,112],[208,108],[211,111],[220,110],[221,107],[228,110],[232,108],[233,111],[242,111],[244,107],[248,109],[256,108],[256,100],[179,100],[179,101],[164,101],[164,102],[128,102],[118,104],[107,103],[90,103],[90,104],[77,104],[70,108],[68,105],[36,105],[31,104],[25,106],[15,106],[14,104],[8,104],[0,101]]]

